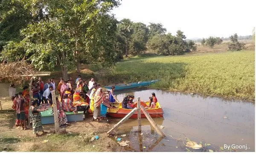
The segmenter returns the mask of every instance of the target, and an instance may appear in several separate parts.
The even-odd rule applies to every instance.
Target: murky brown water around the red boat
[[[229,151],[227,146],[243,146],[237,151],[255,151],[255,105],[244,101],[227,101],[217,97],[173,93],[152,89],[134,89],[114,92],[122,101],[126,95],[134,95],[147,101],[151,93],[164,111],[164,118],[154,118],[162,125],[165,138],[157,137],[147,119],[142,120],[142,133],[137,133],[137,119],[129,119],[117,132],[127,134],[122,140],[130,140],[134,151],[187,151],[186,138],[211,146],[190,151]],[[134,100],[134,101],[135,101]],[[112,120],[117,123],[119,120]],[[227,145],[227,146],[225,146]],[[247,146],[247,149],[245,147]]]

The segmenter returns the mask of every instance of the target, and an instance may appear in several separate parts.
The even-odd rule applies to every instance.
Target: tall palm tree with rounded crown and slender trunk
[[[129,19],[121,20],[121,23],[118,25],[118,29],[122,32],[122,35],[125,36],[125,57],[128,57],[128,42],[132,34],[131,25],[132,22]]]

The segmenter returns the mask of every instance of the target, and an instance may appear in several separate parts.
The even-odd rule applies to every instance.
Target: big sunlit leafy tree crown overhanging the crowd
[[[24,48],[27,60],[39,70],[54,67],[57,60],[65,79],[68,67],[75,64],[79,72],[81,55],[88,62],[109,66],[116,58],[113,44],[117,21],[108,12],[118,5],[116,0],[45,0],[43,8],[49,20],[29,24],[21,31],[24,39],[7,45],[4,55],[10,59],[8,53]]]

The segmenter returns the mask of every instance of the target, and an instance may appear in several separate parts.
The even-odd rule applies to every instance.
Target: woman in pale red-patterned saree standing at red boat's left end
[[[104,100],[105,93],[102,92],[102,88],[98,88],[94,96],[93,120],[100,119],[100,106]]]

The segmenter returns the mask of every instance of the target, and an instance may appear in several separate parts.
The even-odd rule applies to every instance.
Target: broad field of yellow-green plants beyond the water
[[[129,83],[161,79],[152,88],[219,95],[247,101],[255,99],[255,52],[134,57],[116,67],[98,70],[105,83]]]

